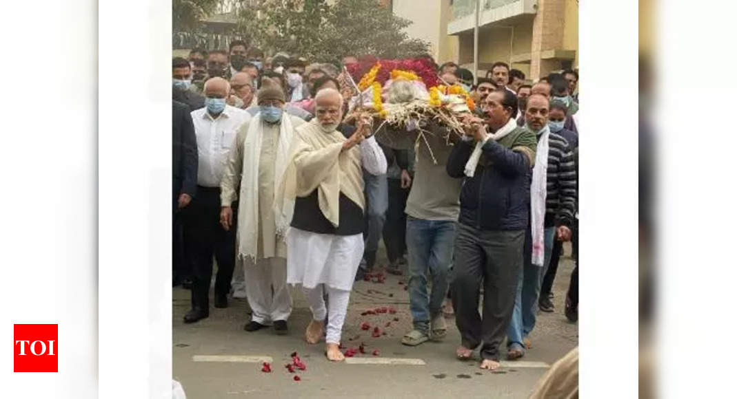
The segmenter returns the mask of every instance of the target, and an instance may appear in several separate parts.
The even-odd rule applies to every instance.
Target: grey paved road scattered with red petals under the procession
[[[570,246],[566,248],[570,254]],[[343,328],[343,345],[366,345],[365,355],[378,358],[421,359],[423,365],[397,364],[335,364],[323,354],[324,342],[307,345],[303,332],[310,320],[310,309],[298,290],[293,290],[294,310],[290,318],[290,334],[276,336],[264,329],[255,333],[242,330],[248,319],[248,302],[231,300],[228,309],[212,309],[210,317],[199,323],[182,323],[189,309],[189,291],[175,288],[172,312],[173,377],[184,386],[187,398],[527,398],[544,367],[533,362],[552,364],[578,345],[578,329],[562,314],[563,298],[573,264],[562,259],[553,292],[555,313],[540,313],[531,334],[533,348],[522,359],[525,362],[505,364],[491,373],[478,369],[478,360],[460,362],[455,348],[460,343],[453,320],[443,342],[426,342],[411,348],[399,339],[411,326],[409,301],[399,278],[389,276],[384,284],[360,281],[354,285],[351,305]],[[211,301],[212,303],[212,301]],[[393,306],[397,314],[361,316],[367,309]],[[394,318],[399,321],[394,321]],[[360,324],[368,322],[386,332],[372,338],[371,331],[362,331]],[[389,326],[386,327],[386,323]],[[349,340],[357,337],[357,339]],[[379,356],[371,351],[379,350]],[[284,364],[290,353],[298,352],[307,364],[299,372],[301,381],[293,381]],[[269,356],[273,359],[272,373],[262,373],[261,362],[195,362],[194,356],[237,355]],[[478,352],[475,353],[478,359]],[[218,358],[221,359],[221,358]],[[526,367],[536,366],[537,367]]]

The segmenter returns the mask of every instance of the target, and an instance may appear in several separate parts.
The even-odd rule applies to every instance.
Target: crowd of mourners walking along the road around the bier
[[[429,56],[428,56],[429,57]],[[413,328],[405,345],[461,333],[456,356],[481,348],[481,367],[520,359],[538,309],[554,312],[563,242],[576,267],[565,315],[578,318],[578,72],[534,84],[495,62],[482,77],[439,65],[445,85],[470,93],[453,105],[464,134],[427,123],[408,132],[360,107],[346,65],[310,62],[233,41],[172,60],[174,285],[192,290],[185,323],[247,298],[245,331],[287,334],[288,286],[312,311],[307,342],[340,333],[354,281],[377,270],[407,278]],[[390,87],[388,103],[412,92]],[[409,96],[409,98],[406,98]],[[417,145],[419,132],[425,134]],[[428,292],[428,285],[430,290]],[[482,312],[479,301],[483,298]]]

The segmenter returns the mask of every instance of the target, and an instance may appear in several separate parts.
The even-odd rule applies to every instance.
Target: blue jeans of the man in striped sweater
[[[545,267],[551,259],[555,227],[545,228],[545,258],[542,267],[532,264],[532,237],[530,229],[525,233],[525,264],[517,284],[517,299],[507,328],[507,346],[518,344],[524,348],[523,339],[535,328],[537,296]]]

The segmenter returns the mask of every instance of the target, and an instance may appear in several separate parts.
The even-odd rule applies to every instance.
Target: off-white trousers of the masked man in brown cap
[[[292,297],[287,289],[287,259],[243,260],[245,293],[253,315],[251,320],[270,326],[287,320],[292,312]]]

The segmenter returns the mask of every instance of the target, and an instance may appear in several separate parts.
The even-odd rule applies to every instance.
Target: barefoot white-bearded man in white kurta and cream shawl
[[[338,348],[340,331],[363,256],[361,168],[373,175],[386,173],[386,159],[376,140],[364,140],[371,132],[367,120],[359,118],[355,132],[347,139],[335,130],[342,105],[338,90],[320,90],[315,96],[316,118],[295,131],[290,162],[275,202],[277,214],[291,221],[287,282],[302,286],[312,310],[305,339],[312,344],[321,339],[327,315],[326,355],[333,361],[343,360]]]

